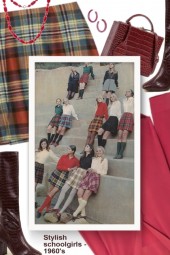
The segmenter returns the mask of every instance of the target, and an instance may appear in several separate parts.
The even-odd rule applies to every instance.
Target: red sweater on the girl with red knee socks
[[[75,156],[73,156],[73,158],[69,158],[69,155],[63,155],[59,159],[56,168],[59,171],[68,171],[68,168],[75,166],[79,167],[79,165],[79,160]]]

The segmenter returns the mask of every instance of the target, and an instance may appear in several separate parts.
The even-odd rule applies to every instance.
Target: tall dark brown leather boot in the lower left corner
[[[41,255],[25,240],[19,215],[18,153],[0,153],[0,255]]]

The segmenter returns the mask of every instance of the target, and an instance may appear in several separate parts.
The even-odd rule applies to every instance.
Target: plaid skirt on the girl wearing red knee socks
[[[54,170],[48,181],[51,185],[61,190],[68,178],[68,174],[69,172]]]

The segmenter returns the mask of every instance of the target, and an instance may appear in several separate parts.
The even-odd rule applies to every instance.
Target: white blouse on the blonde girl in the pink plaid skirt
[[[107,174],[108,171],[108,160],[107,158],[104,158],[102,160],[101,157],[96,157],[92,159],[91,168],[100,175]]]

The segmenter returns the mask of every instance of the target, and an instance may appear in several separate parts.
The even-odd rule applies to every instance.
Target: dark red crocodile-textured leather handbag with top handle
[[[150,22],[151,31],[148,32],[130,24],[130,20],[137,16],[143,16]],[[149,76],[158,63],[158,53],[162,42],[163,37],[154,32],[150,19],[145,15],[136,14],[130,17],[126,23],[114,21],[102,55],[140,56],[141,75]]]

